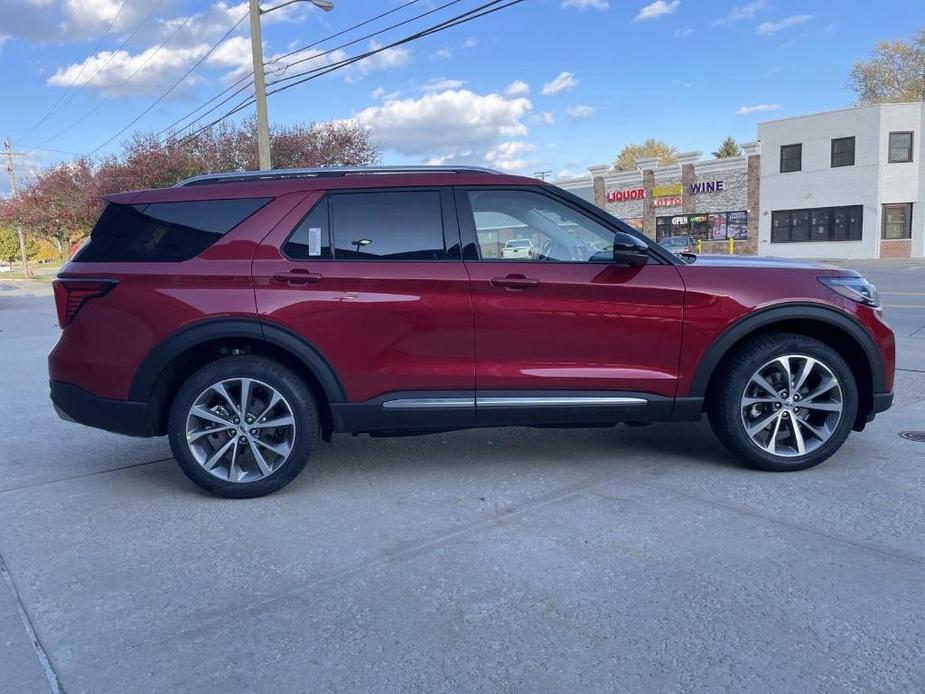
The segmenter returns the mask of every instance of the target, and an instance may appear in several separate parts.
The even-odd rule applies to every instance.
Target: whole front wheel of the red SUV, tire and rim
[[[718,368],[722,372],[708,402],[710,425],[751,467],[769,472],[813,467],[835,453],[854,426],[857,381],[841,355],[819,340],[765,335]],[[800,385],[796,391],[795,382]]]

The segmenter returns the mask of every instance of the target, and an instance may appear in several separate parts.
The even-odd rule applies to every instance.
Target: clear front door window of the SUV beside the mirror
[[[613,259],[614,232],[550,197],[523,190],[468,191],[482,260]]]

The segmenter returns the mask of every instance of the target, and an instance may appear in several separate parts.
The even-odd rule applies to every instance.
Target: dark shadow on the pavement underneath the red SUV
[[[660,465],[740,467],[705,422],[588,429],[507,427],[390,438],[337,435],[330,444],[319,443],[302,474],[276,494],[357,481],[385,484],[392,476],[416,478],[422,485],[459,476],[478,483],[481,476],[490,485],[526,474],[567,475],[570,469],[620,474]],[[189,482],[176,463],[170,467],[168,474],[162,474],[163,465],[151,466],[157,474],[142,479],[173,491],[209,496]]]

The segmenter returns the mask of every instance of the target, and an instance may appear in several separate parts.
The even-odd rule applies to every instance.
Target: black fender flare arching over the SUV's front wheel
[[[694,378],[691,381],[690,397],[704,397],[706,395],[707,386],[710,384],[710,378],[713,376],[713,371],[716,369],[717,364],[739,340],[767,325],[795,319],[818,321],[840,328],[847,333],[867,357],[873,392],[882,393],[886,390],[883,357],[864,326],[843,311],[819,304],[802,303],[759,309],[740,318],[726,328],[701,357],[697,370],[694,372]]]

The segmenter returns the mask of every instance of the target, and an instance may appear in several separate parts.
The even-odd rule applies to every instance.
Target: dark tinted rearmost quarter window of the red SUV
[[[189,260],[211,246],[270,198],[109,203],[75,256],[83,262]]]

